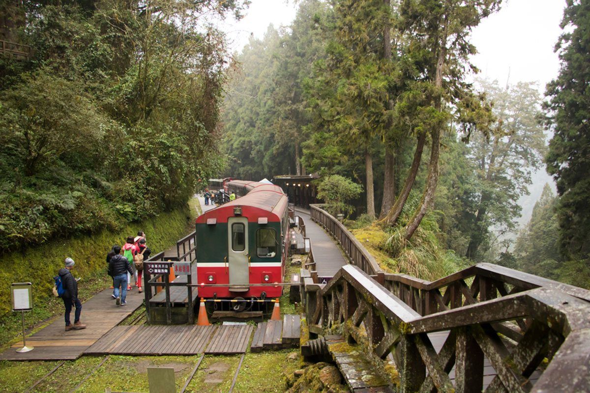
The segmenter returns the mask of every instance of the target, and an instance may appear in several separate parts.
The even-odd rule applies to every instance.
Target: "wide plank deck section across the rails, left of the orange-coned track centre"
[[[115,326],[86,355],[202,354],[217,326]]]

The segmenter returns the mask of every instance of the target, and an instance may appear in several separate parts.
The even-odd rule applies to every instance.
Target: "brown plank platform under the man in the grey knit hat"
[[[104,289],[82,303],[80,321],[88,326],[86,329],[66,332],[62,314],[53,323],[27,338],[27,346],[35,347],[31,352],[18,354],[15,350],[22,347],[22,342],[19,342],[0,354],[0,360],[53,361],[79,358],[89,346],[142,305],[143,293],[137,293],[135,288],[127,291],[126,306],[117,306],[111,298],[112,293],[112,289]],[[72,322],[74,312],[72,309]]]

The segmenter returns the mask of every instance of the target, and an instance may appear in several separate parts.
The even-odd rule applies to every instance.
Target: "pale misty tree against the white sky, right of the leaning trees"
[[[464,219],[471,226],[466,256],[475,259],[487,251],[480,246],[495,232],[514,230],[520,216],[518,200],[528,194],[533,170],[541,166],[545,154],[545,133],[539,124],[541,98],[535,84],[518,82],[500,88],[497,82],[480,80],[493,103],[496,121],[489,138],[476,133],[469,143],[468,157],[476,168],[477,201]]]

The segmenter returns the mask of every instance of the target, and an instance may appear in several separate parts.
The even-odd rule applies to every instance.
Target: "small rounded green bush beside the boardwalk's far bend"
[[[338,174],[326,176],[317,185],[317,197],[325,203],[325,208],[330,214],[350,214],[354,208],[348,204],[362,193],[363,187],[353,183],[350,179]]]

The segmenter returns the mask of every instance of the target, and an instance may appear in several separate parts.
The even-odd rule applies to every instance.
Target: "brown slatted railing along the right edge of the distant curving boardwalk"
[[[385,272],[379,267],[375,258],[356,239],[355,235],[346,229],[344,224],[339,222],[332,214],[323,210],[322,205],[310,204],[309,208],[312,220],[323,226],[326,232],[330,233],[340,243],[350,263],[360,267],[368,275],[374,276],[377,282],[385,282]]]

